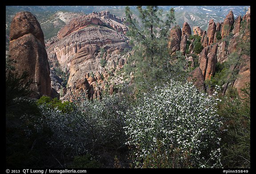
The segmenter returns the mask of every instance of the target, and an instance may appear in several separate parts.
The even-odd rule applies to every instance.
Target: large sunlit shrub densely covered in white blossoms
[[[165,167],[221,167],[216,104],[192,83],[171,81],[145,94],[141,105],[121,113],[136,166],[155,156],[155,162],[167,159]]]

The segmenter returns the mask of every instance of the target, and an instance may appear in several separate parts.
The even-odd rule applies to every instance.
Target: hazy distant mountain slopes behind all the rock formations
[[[39,21],[44,32],[45,40],[57,35],[61,27],[73,17],[89,14],[93,11],[109,11],[111,14],[125,17],[126,6],[6,6],[6,41],[8,42],[9,27],[13,16],[20,11],[32,12]],[[135,15],[136,6],[130,6]],[[184,22],[207,30],[208,21],[214,19],[221,22],[230,10],[234,16],[244,15],[249,6],[159,6],[166,13],[170,8],[175,9],[176,23],[182,27]],[[163,15],[164,17],[164,15]]]

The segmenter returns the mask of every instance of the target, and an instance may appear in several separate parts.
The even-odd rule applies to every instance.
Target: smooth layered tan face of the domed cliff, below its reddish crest
[[[70,72],[68,84],[71,85],[84,73],[101,70],[101,57],[107,60],[107,56],[115,54],[115,51],[129,49],[127,40],[126,36],[108,27],[88,26],[49,45],[47,51],[52,62],[57,59],[62,70]],[[101,48],[106,49],[102,55]]]

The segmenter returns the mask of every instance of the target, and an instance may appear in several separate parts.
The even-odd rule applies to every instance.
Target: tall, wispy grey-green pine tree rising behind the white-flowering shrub
[[[133,54],[128,59],[125,70],[133,72],[138,89],[150,90],[160,80],[170,61],[168,53],[168,35],[175,22],[174,9],[165,14],[157,6],[137,6],[139,20],[133,18],[126,7],[126,19],[129,27],[128,37],[133,46]]]

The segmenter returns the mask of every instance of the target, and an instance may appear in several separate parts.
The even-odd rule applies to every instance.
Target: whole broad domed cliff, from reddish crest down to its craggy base
[[[92,12],[72,19],[47,44],[49,61],[58,62],[53,66],[70,74],[67,93],[84,92],[95,98],[110,85],[109,74],[123,67],[126,58],[121,53],[130,49],[124,35],[128,28],[120,22],[123,19],[109,12]],[[57,86],[59,82],[52,83],[60,92]]]

